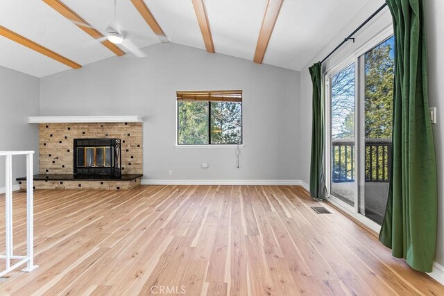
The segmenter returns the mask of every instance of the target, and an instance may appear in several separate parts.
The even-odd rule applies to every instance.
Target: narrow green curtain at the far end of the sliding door
[[[324,199],[327,195],[324,174],[325,103],[322,92],[321,62],[309,68],[313,82],[313,117],[311,125],[310,195]]]

